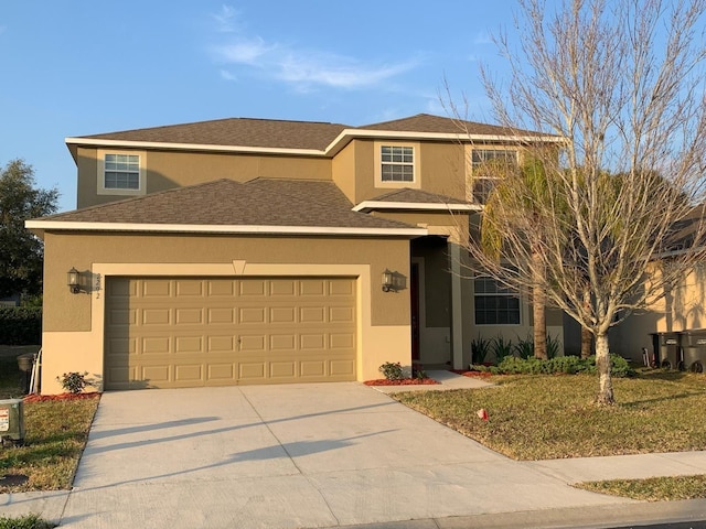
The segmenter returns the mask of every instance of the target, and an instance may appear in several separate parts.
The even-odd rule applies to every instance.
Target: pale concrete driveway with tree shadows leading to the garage
[[[333,527],[616,504],[357,382],[140,390],[103,396],[62,527]]]

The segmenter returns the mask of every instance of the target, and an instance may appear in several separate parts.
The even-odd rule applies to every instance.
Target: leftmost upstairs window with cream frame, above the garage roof
[[[99,195],[143,195],[146,193],[142,151],[98,151]]]

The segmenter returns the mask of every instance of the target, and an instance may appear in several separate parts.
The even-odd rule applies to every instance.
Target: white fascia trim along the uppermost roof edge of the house
[[[132,141],[132,140],[109,140],[100,138],[65,138],[67,145],[95,145],[115,149],[164,149],[164,150],[191,150],[191,151],[218,151],[218,152],[246,152],[246,153],[269,153],[269,154],[292,154],[308,156],[327,156],[334,154],[341,143],[345,143],[349,138],[372,138],[389,140],[447,140],[447,141],[470,141],[485,142],[498,141],[507,143],[537,142],[564,143],[567,140],[556,136],[504,136],[504,134],[464,134],[448,132],[408,132],[394,130],[365,130],[344,129],[323,151],[319,149],[285,149],[275,147],[244,147],[244,145],[213,145],[201,143],[170,143],[162,141]]]

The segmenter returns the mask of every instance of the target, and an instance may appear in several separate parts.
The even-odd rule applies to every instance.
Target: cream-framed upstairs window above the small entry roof
[[[419,187],[419,144],[375,143],[375,184],[378,187]]]

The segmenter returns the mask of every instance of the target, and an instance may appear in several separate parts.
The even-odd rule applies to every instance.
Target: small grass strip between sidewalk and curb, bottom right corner
[[[646,501],[706,498],[706,476],[704,475],[585,482],[574,486],[593,493]]]

